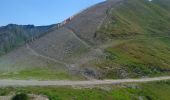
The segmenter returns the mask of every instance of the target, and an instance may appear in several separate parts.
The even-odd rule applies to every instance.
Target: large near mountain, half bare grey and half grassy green
[[[169,75],[169,5],[169,0],[99,3],[4,55],[0,69],[3,73],[9,69],[20,73],[16,70],[20,68],[55,69],[63,72],[59,76],[89,79]]]

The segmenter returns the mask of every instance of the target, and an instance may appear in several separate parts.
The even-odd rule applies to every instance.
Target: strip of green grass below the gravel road
[[[129,83],[107,86],[107,88],[109,90],[99,87],[77,89],[71,87],[1,88],[0,95],[31,93],[46,95],[50,100],[139,100],[139,98],[143,100],[169,100],[170,98],[170,81]]]

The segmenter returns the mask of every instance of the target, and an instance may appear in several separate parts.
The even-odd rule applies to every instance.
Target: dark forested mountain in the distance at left
[[[6,54],[15,47],[22,45],[33,38],[43,35],[54,25],[34,26],[9,24],[0,27],[0,55]]]

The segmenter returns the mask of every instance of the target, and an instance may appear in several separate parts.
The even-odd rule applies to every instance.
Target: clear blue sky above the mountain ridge
[[[104,0],[0,0],[0,26],[49,25]]]

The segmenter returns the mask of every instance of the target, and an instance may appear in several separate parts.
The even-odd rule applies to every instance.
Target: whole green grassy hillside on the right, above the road
[[[105,49],[100,64],[105,78],[169,74],[170,2],[125,0],[108,10],[97,38],[124,41]]]

